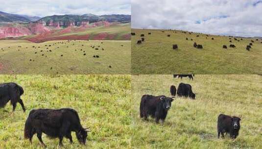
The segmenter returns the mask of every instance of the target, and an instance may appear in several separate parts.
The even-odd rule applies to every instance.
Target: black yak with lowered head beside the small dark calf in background
[[[195,95],[192,92],[192,87],[190,84],[180,83],[177,89],[178,97],[190,97],[191,99],[195,99]]]

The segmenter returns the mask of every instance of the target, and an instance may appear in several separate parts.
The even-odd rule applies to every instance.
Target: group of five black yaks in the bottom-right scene
[[[174,78],[189,77],[193,80],[194,75],[173,75]],[[143,95],[140,102],[140,117],[148,121],[148,116],[155,119],[156,123],[161,120],[163,123],[167,118],[167,112],[171,108],[172,101],[175,100],[175,96],[186,97],[195,99],[195,93],[192,92],[192,86],[190,84],[180,83],[178,89],[174,85],[170,86],[171,97],[165,95],[153,96]],[[217,117],[217,138],[224,138],[224,133],[229,133],[230,137],[235,139],[238,136],[240,129],[241,117],[228,116],[219,114]]]

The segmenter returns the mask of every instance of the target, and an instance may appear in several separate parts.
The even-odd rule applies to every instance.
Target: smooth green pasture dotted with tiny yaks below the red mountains
[[[95,50],[96,48],[98,50]],[[0,73],[129,74],[130,54],[130,41],[79,40],[37,44],[25,40],[2,40]],[[98,55],[99,58],[94,58],[94,55]]]

